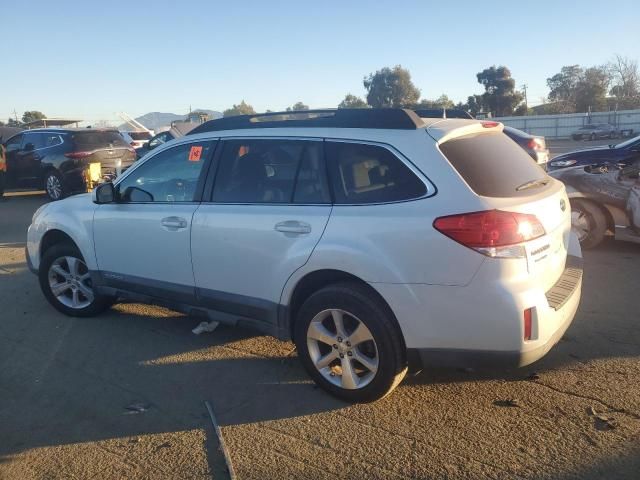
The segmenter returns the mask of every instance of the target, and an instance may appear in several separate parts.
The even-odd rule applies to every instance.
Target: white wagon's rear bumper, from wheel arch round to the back
[[[569,328],[580,303],[582,258],[575,234],[555,284],[543,289],[487,260],[466,286],[372,284],[400,324],[409,359],[429,366],[524,366],[543,357]],[[531,309],[531,338],[524,311]]]

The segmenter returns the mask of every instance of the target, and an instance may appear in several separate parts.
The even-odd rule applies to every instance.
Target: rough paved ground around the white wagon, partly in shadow
[[[426,370],[348,405],[293,345],[141,305],[54,311],[25,265],[44,201],[0,201],[0,478],[637,479],[640,245],[585,252],[562,341],[519,370]],[[127,408],[129,407],[129,409]],[[138,411],[142,410],[142,411]]]

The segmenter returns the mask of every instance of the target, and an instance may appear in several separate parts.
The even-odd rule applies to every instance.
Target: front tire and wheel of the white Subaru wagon
[[[73,268],[74,264],[77,268]],[[88,272],[82,254],[75,245],[54,245],[45,252],[40,262],[40,288],[59,312],[71,317],[92,317],[109,308],[113,299],[95,294]],[[62,288],[57,294],[53,291],[56,285]]]

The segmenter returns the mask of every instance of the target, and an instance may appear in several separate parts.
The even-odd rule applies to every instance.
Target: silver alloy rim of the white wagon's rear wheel
[[[371,331],[344,310],[323,310],[311,320],[307,348],[318,372],[344,389],[365,387],[378,371],[378,348]]]

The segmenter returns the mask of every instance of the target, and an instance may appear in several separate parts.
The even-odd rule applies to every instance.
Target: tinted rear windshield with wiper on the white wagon
[[[517,197],[538,193],[549,177],[527,153],[502,133],[455,138],[440,150],[469,184],[484,197]]]

